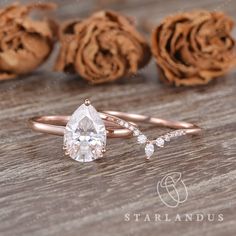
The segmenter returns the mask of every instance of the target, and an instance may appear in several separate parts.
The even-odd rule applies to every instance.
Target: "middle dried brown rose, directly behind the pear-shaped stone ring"
[[[151,57],[146,40],[131,20],[113,11],[65,23],[60,41],[55,69],[78,73],[93,84],[134,74]]]

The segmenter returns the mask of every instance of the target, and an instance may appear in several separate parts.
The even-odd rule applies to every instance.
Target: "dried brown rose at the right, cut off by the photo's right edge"
[[[176,86],[206,84],[235,65],[233,21],[220,12],[167,17],[153,31],[152,50],[161,80]]]

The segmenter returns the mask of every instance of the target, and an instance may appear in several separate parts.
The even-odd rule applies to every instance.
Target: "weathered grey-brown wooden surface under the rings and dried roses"
[[[11,1],[1,1],[1,5]],[[223,10],[236,19],[235,1],[131,0],[57,1],[60,19],[86,16],[106,7],[159,20],[180,10]],[[112,2],[112,6],[109,5]],[[55,52],[56,54],[56,52]],[[55,55],[37,72],[0,84],[0,235],[235,235],[236,73],[198,88],[170,88],[158,81],[152,62],[139,75],[91,87],[75,77],[51,72]],[[77,163],[65,157],[62,137],[37,134],[27,119],[71,114],[85,98],[97,109],[147,113],[195,122],[198,137],[184,137],[144,159],[135,139],[109,140],[106,157]],[[156,137],[164,130],[145,127]],[[188,199],[168,208],[156,184],[180,172]],[[222,222],[135,222],[125,214],[223,214]]]

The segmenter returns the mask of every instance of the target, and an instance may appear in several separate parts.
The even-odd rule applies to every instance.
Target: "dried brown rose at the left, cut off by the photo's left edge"
[[[47,59],[53,48],[54,25],[33,20],[29,13],[54,8],[50,3],[15,3],[0,9],[0,80],[29,73]]]

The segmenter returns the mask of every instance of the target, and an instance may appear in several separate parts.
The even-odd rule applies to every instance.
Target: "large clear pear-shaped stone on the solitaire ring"
[[[102,157],[105,146],[106,128],[99,113],[90,104],[81,105],[66,125],[66,153],[76,161],[90,162]]]

